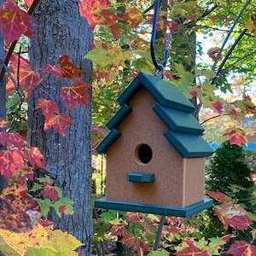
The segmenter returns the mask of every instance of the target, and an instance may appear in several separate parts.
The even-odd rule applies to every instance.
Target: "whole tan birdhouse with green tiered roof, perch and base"
[[[117,102],[109,133],[106,198],[96,207],[188,217],[212,206],[205,199],[205,157],[212,148],[191,114],[195,107],[173,84],[140,72]]]

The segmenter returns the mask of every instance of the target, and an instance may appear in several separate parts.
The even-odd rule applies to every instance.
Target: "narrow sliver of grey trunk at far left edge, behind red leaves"
[[[0,0],[0,5],[3,4],[3,0]],[[4,61],[4,49],[3,49],[3,34],[0,30],[0,60],[2,61],[0,63],[0,73],[2,72],[3,68],[3,61]],[[5,79],[3,78],[0,81],[0,118],[5,119],[6,118],[6,106],[5,106],[5,101],[6,101],[6,91],[5,91]],[[0,131],[4,131],[4,129],[0,128]],[[4,145],[0,143],[0,150],[3,150],[5,148]],[[0,175],[0,193],[2,190],[7,186],[7,182],[5,177]]]

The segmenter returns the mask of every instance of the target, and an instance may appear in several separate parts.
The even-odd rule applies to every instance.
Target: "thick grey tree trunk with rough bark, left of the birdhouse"
[[[32,69],[44,64],[55,65],[60,55],[70,55],[70,61],[84,70],[83,80],[90,83],[91,63],[84,59],[90,49],[92,32],[86,19],[79,15],[75,1],[44,0],[33,13],[33,40],[29,55]],[[28,99],[28,131],[30,146],[44,154],[50,177],[74,201],[73,216],[58,218],[50,212],[55,228],[67,231],[84,243],[83,255],[91,254],[92,211],[91,190],[91,104],[77,106],[69,112],[62,102],[60,90],[67,82],[50,75]],[[69,113],[73,124],[62,137],[52,128],[44,131],[44,116],[35,109],[38,98],[53,99],[61,113]],[[40,172],[40,170],[38,170]],[[38,173],[40,175],[40,173]]]

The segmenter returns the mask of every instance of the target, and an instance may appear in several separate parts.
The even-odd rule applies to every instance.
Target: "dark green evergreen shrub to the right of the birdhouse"
[[[247,165],[246,152],[227,141],[215,150],[207,167],[207,189],[236,197],[239,203],[252,211],[254,183],[252,170]]]

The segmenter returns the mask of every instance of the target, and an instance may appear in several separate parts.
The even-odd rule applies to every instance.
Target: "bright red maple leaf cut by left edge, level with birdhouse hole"
[[[13,174],[24,168],[22,154],[17,150],[0,150],[0,172],[9,182]]]

